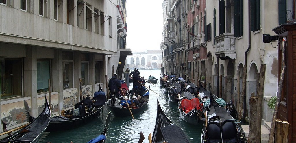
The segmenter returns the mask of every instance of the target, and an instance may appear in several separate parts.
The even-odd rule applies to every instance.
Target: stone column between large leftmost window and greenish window
[[[37,117],[37,49],[34,46],[26,46],[24,89],[25,97],[31,97],[31,113],[33,117]]]

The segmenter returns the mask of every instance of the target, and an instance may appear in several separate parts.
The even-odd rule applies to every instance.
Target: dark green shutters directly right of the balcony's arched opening
[[[243,31],[243,1],[238,0],[234,3],[234,36],[242,36]]]

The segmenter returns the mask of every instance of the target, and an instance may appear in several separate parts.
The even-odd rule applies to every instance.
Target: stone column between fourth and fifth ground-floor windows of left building
[[[89,85],[92,85],[92,93],[96,92],[95,54],[89,53]]]

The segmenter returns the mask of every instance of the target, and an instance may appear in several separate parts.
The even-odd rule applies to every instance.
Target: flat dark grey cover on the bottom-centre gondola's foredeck
[[[165,138],[166,142],[169,143],[189,143],[186,139],[185,134],[182,129],[176,125],[161,126],[160,130]]]

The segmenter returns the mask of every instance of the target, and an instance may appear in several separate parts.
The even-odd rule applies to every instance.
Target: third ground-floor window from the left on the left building
[[[73,88],[73,52],[63,51],[63,89]]]

